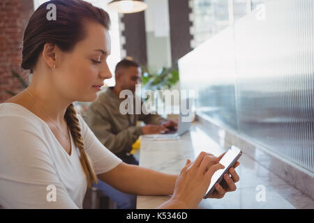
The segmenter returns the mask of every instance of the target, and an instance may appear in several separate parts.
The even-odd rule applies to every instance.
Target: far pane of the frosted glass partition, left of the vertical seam
[[[225,29],[179,61],[182,89],[195,89],[195,107],[237,128],[232,29]],[[221,45],[220,43],[223,43]]]

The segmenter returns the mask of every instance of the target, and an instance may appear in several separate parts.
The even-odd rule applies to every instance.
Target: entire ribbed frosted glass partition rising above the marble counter
[[[271,0],[179,60],[198,112],[314,172],[314,0]]]

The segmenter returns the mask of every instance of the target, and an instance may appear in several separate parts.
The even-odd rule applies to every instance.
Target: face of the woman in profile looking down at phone
[[[87,36],[71,52],[57,54],[56,76],[58,89],[73,101],[94,101],[98,90],[93,86],[103,84],[112,74],[107,65],[111,53],[110,35],[96,22],[84,22]]]

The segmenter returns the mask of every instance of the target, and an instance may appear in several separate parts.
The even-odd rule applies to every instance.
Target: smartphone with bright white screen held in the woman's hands
[[[209,197],[212,192],[214,192],[216,183],[220,183],[223,180],[223,175],[227,173],[227,171],[234,166],[234,164],[239,160],[239,157],[242,155],[242,151],[237,146],[230,146],[229,150],[223,157],[220,159],[220,163],[225,166],[224,169],[218,169],[211,177],[211,183],[207,189],[207,192],[204,196],[204,199]]]

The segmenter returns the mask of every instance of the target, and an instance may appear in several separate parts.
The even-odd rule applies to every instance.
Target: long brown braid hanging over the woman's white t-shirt
[[[84,173],[87,176],[87,185],[88,187],[91,187],[91,183],[93,182],[98,183],[98,180],[94,172],[94,169],[91,166],[89,157],[87,153],[85,153],[84,151],[84,141],[82,139],[80,123],[76,114],[77,113],[74,108],[74,105],[73,103],[71,103],[66,109],[66,114],[65,114],[66,123],[68,124],[68,127],[70,128],[70,133],[72,134],[75,145],[80,150],[80,162],[84,169]]]

